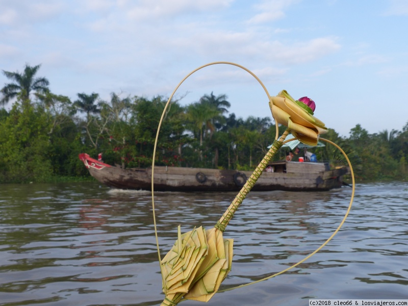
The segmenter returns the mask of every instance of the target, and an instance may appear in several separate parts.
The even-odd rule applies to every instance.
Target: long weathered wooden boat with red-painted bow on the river
[[[100,183],[111,188],[151,190],[151,167],[122,169],[89,157],[79,155],[89,173]],[[294,190],[318,191],[340,188],[347,167],[329,169],[328,163],[274,162],[273,172],[264,172],[254,191]],[[251,171],[219,170],[155,166],[156,191],[239,191]],[[346,184],[345,184],[346,185]]]

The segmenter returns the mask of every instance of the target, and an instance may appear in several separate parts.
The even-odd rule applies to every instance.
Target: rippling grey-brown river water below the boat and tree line
[[[222,288],[303,259],[341,222],[351,188],[251,192],[228,225]],[[155,193],[164,255],[182,232],[211,228],[235,193]],[[0,185],[0,305],[158,305],[163,300],[150,193],[97,183]],[[358,184],[339,233],[315,256],[206,305],[307,305],[309,298],[408,299],[408,184]],[[186,301],[183,306],[205,305]]]

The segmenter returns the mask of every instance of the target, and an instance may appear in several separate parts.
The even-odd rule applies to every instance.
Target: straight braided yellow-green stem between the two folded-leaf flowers
[[[286,129],[286,131],[282,134],[281,138],[277,141],[276,139],[273,141],[272,146],[262,159],[262,161],[258,164],[258,166],[253,170],[251,176],[246,181],[244,186],[235,196],[234,200],[231,202],[230,206],[227,208],[225,213],[222,217],[217,221],[214,225],[215,228],[220,230],[221,232],[225,231],[225,227],[233,218],[235,212],[238,210],[239,206],[241,205],[242,201],[245,199],[249,191],[251,191],[252,187],[257,183],[259,177],[261,176],[262,172],[265,170],[266,166],[268,166],[269,162],[271,161],[272,157],[276,154],[276,152],[282,147],[283,142],[285,141],[286,136],[288,136],[290,130]]]

